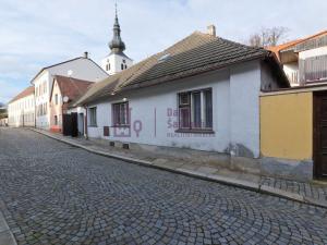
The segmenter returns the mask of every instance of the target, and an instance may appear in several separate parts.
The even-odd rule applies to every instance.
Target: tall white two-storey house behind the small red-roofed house
[[[84,57],[78,57],[41,69],[32,79],[32,84],[35,86],[37,127],[47,130],[50,127],[49,99],[50,89],[56,75],[71,76],[77,79],[92,82],[98,82],[108,77],[108,74],[87,57],[87,52],[85,52]]]

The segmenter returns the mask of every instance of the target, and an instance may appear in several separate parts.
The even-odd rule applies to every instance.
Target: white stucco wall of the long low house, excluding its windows
[[[88,126],[90,138],[184,147],[199,150],[231,152],[232,155],[259,156],[259,100],[261,64],[250,62],[231,70],[199,75],[165,85],[133,90],[130,95],[111,97],[89,107],[97,107],[97,126]],[[215,134],[175,133],[169,122],[178,123],[178,117],[168,117],[167,110],[178,107],[178,93],[213,89],[213,130]],[[131,112],[131,135],[117,136],[111,127],[111,103],[126,98]],[[156,111],[156,114],[155,114]],[[142,122],[142,131],[137,126]],[[136,125],[136,132],[134,126]],[[177,124],[178,125],[178,124]],[[104,136],[104,126],[110,126],[110,136]],[[128,135],[129,130],[117,130]]]

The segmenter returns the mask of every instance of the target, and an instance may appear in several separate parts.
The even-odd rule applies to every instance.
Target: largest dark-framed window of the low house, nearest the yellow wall
[[[179,127],[213,128],[213,91],[203,89],[179,94]]]

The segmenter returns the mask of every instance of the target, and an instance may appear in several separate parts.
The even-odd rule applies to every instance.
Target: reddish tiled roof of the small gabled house
[[[59,75],[56,75],[55,79],[57,81],[62,97],[64,96],[69,97],[70,101],[73,101],[80,98],[81,96],[83,96],[87,91],[89,86],[94,84],[94,82],[76,79],[73,77],[59,76]],[[52,90],[53,87],[51,89],[51,96],[52,96]]]

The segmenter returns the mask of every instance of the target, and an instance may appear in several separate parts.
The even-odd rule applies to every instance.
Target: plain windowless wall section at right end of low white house
[[[259,157],[261,65],[247,63],[231,69],[230,152]]]

